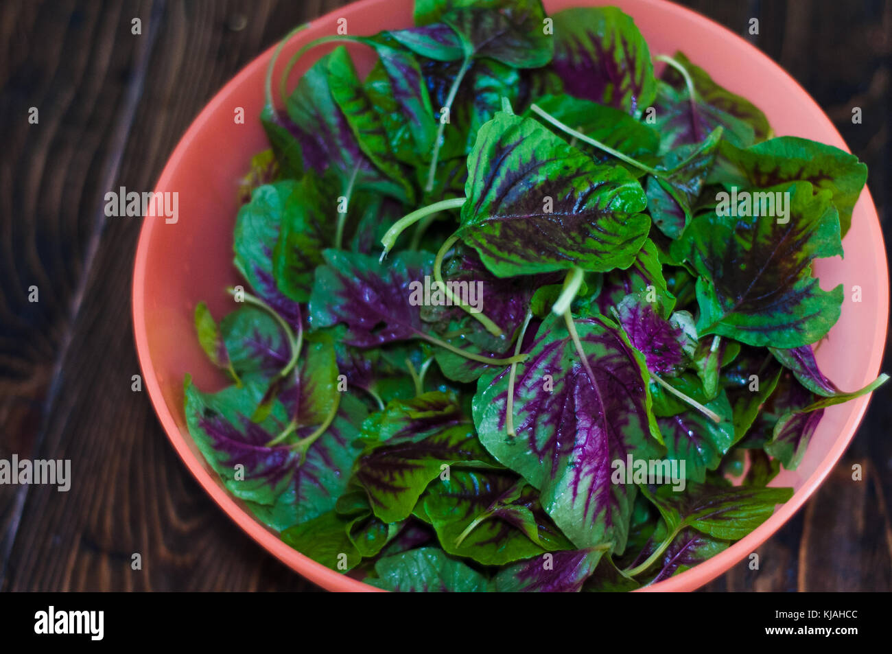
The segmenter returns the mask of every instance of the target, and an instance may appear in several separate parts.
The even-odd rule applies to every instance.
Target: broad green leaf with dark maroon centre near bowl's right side
[[[673,244],[702,276],[699,335],[798,347],[821,340],[839,318],[842,285],[824,291],[811,276],[814,258],[842,254],[830,195],[813,195],[807,182],[776,190],[789,192],[787,222],[703,215]]]

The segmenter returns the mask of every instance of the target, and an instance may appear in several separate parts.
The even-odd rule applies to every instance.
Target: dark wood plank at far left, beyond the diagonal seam
[[[148,42],[129,36],[120,8],[7,3],[0,16],[9,48],[0,115],[10,126],[0,168],[0,269],[8,280],[0,289],[0,416],[9,435],[0,454],[31,457],[95,258],[95,201],[116,173],[114,149],[120,155],[120,131],[135,113],[127,87],[105,80],[123,79]],[[28,122],[32,106],[37,124]],[[31,286],[38,302],[29,302]],[[28,490],[0,487],[0,580]]]

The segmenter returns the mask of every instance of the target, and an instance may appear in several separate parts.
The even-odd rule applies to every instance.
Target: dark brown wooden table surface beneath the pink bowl
[[[291,26],[341,4],[0,4],[0,458],[72,459],[78,480],[69,493],[0,486],[0,589],[317,590],[211,502],[146,394],[131,391],[140,221],[105,218],[103,194],[152,188],[219,87]],[[759,19],[759,36],[748,38],[869,165],[888,242],[892,0],[684,4],[740,34]],[[863,108],[860,125],[853,106]],[[29,302],[32,285],[39,302]],[[889,397],[887,388],[873,399],[838,468],[759,549],[761,570],[742,562],[706,590],[892,589]],[[855,462],[863,482],[851,480]]]

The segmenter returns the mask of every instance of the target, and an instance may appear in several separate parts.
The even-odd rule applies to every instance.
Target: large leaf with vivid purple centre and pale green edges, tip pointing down
[[[634,486],[613,484],[611,464],[662,452],[644,360],[605,319],[574,327],[587,366],[558,317],[542,323],[517,365],[516,436],[507,430],[508,368],[480,378],[474,421],[486,449],[540,490],[542,506],[577,547],[613,543],[622,551]]]

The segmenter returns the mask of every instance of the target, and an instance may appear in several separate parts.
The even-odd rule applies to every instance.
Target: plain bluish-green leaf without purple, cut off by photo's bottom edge
[[[485,592],[489,584],[474,568],[434,547],[381,559],[375,572],[368,584],[395,592]]]

